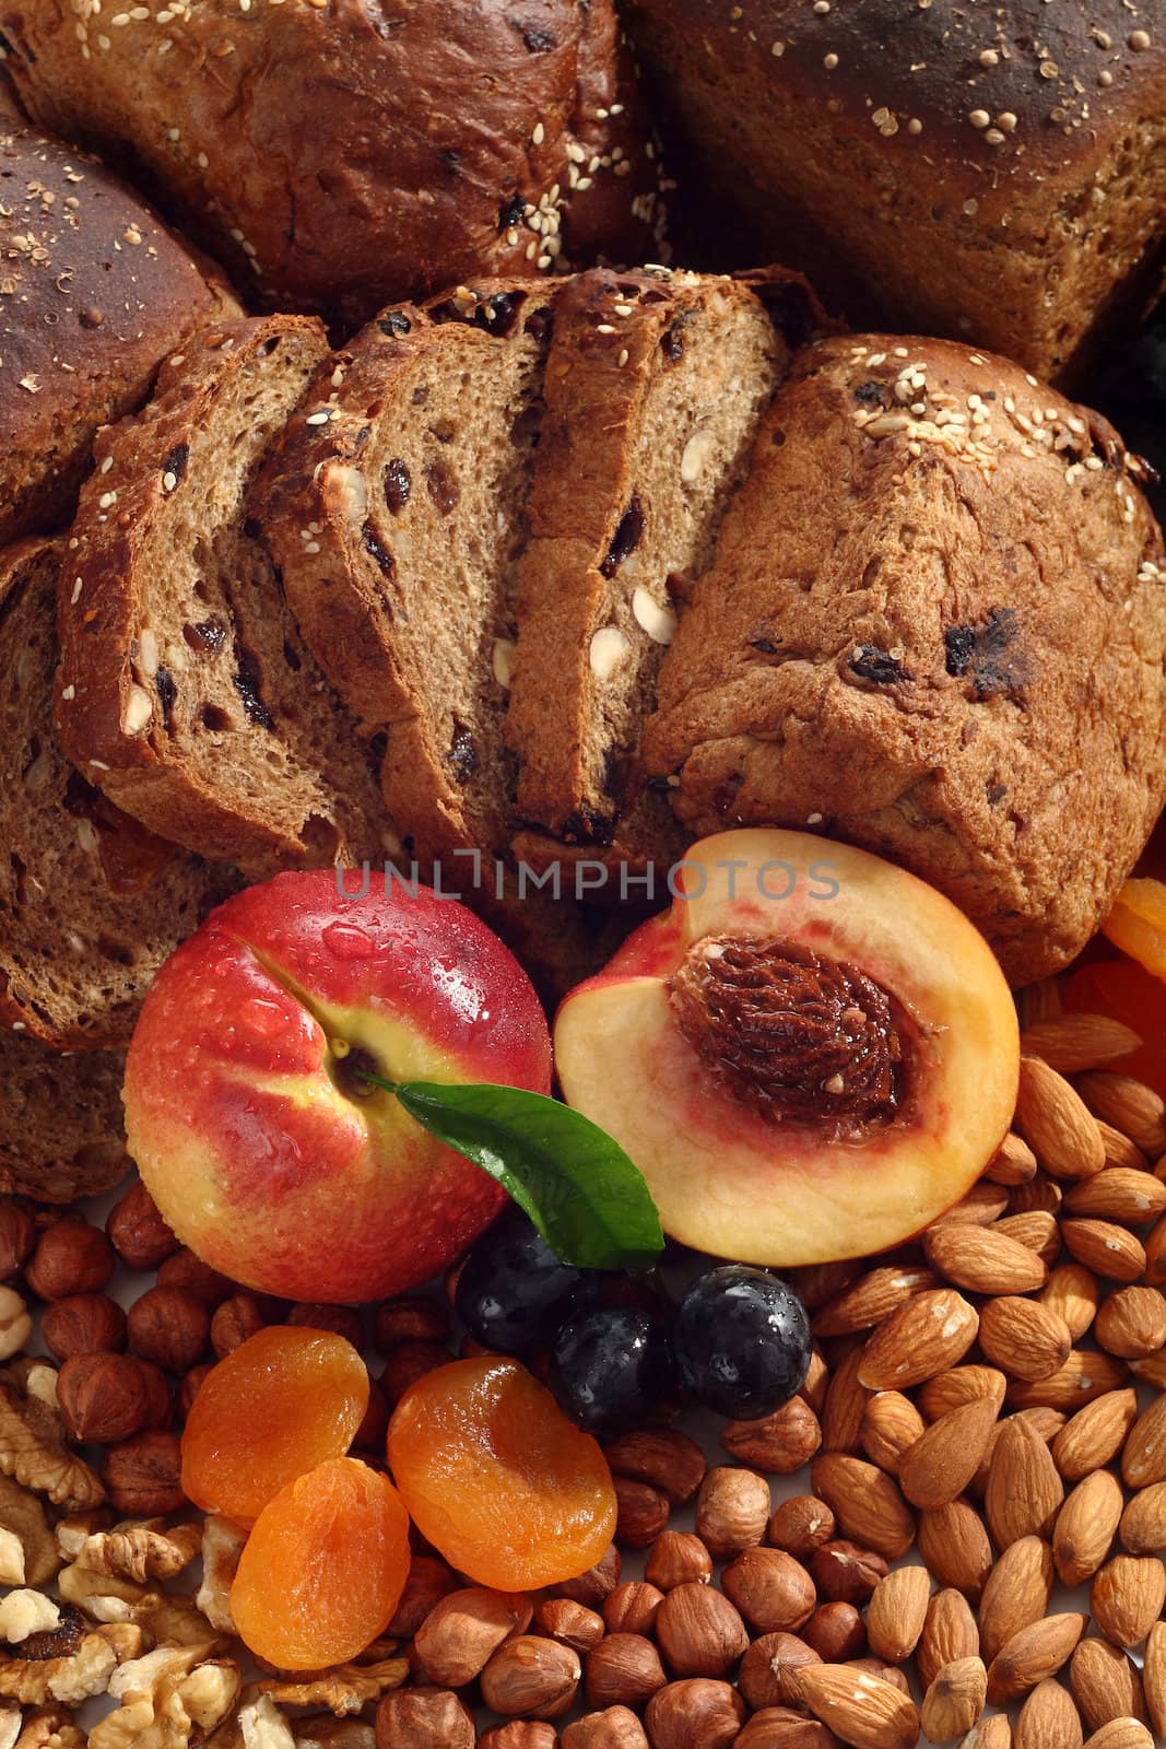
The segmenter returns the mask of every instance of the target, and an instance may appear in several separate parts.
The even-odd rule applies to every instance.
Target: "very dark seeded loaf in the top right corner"
[[[1163,0],[626,0],[694,236],[1063,373],[1154,289]]]

